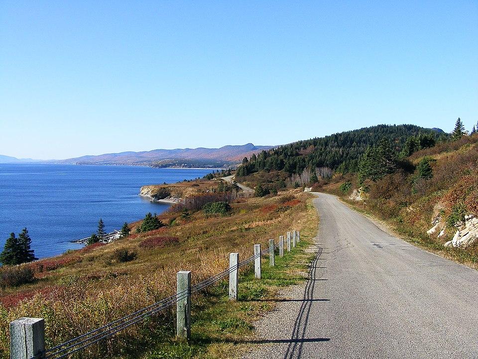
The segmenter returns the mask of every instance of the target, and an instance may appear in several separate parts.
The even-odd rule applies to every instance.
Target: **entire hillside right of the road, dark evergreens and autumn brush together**
[[[263,193],[311,186],[350,203],[378,199],[368,210],[405,236],[477,266],[477,143],[460,119],[453,134],[380,125],[263,151],[236,178]]]

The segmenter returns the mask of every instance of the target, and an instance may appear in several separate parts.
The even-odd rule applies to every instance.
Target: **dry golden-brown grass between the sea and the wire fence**
[[[310,225],[306,195],[296,193],[294,198],[288,205],[279,203],[279,197],[241,199],[232,203],[228,217],[206,217],[199,211],[184,219],[178,213],[164,213],[159,219],[164,223],[175,219],[173,225],[48,259],[37,270],[36,283],[2,294],[1,358],[8,356],[8,323],[14,319],[45,318],[48,348],[173,294],[179,270],[191,270],[194,284],[226,268],[229,252],[239,252],[244,259],[252,255],[253,244],[265,246],[269,238]],[[271,205],[283,210],[263,210]],[[166,246],[140,245],[158,237],[177,240]],[[137,257],[112,262],[118,250],[135,252]],[[170,315],[166,312],[164,320]],[[126,358],[123,349],[134,346],[131,343],[151,341],[157,335],[154,328],[151,323],[131,327],[113,340],[93,346],[82,358],[113,354]]]

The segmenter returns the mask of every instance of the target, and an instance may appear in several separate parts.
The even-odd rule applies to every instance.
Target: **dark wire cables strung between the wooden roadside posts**
[[[279,243],[274,245],[274,250],[279,247]],[[100,328],[92,330],[88,333],[82,334],[79,337],[73,338],[67,342],[59,344],[53,348],[47,349],[41,356],[31,357],[30,359],[62,359],[67,358],[82,349],[85,349],[95,343],[100,342],[101,340],[107,339],[116,333],[137,324],[151,316],[157,314],[158,312],[169,308],[175,305],[177,302],[181,301],[182,299],[198,293],[199,291],[205,289],[208,286],[215,284],[216,282],[222,280],[223,278],[229,276],[234,271],[239,270],[239,268],[255,261],[255,259],[261,257],[263,254],[269,253],[270,248],[267,247],[266,249],[260,251],[259,253],[254,254],[253,256],[239,262],[237,266],[230,267],[225,269],[224,271],[203,280],[191,286],[190,289],[186,289],[182,292],[176,293],[168,298],[165,298],[159,302],[151,304],[148,307],[142,308],[134,313],[131,313],[127,316],[119,318],[111,323],[108,323]]]

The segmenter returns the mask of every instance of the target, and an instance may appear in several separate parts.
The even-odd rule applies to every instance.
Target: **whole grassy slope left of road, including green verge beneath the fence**
[[[232,204],[233,213],[227,217],[206,217],[196,212],[184,219],[165,213],[161,219],[171,226],[42,261],[43,270],[36,273],[35,283],[2,291],[1,357],[7,357],[11,320],[22,316],[45,318],[48,348],[171,295],[178,270],[192,270],[194,284],[226,268],[229,252],[237,251],[240,258],[247,258],[253,244],[267,245],[269,238],[277,239],[294,228],[301,230],[305,240],[315,236],[315,211],[304,194],[295,191],[293,195],[296,199],[286,198],[282,201],[286,203],[280,201],[281,197],[241,199]],[[139,246],[141,241],[158,236],[177,237],[179,243],[153,249]],[[136,252],[137,258],[126,263],[112,261],[118,248]],[[237,351],[232,348],[239,350],[243,346],[237,344],[252,335],[253,320],[271,308],[270,303],[255,299],[270,298],[279,286],[296,281],[288,274],[295,266],[292,260],[288,256],[278,260],[275,269],[264,268],[265,280],[261,282],[243,273],[241,300],[233,305],[226,300],[224,286],[195,297],[191,347],[171,340],[173,313],[164,312],[154,323],[146,321],[101,346],[91,347],[83,358],[234,355]]]

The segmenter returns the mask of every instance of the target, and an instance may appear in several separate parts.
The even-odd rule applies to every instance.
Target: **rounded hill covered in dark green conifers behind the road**
[[[328,167],[343,173],[356,172],[359,159],[368,146],[375,146],[386,139],[398,154],[414,152],[420,147],[433,146],[435,141],[447,136],[440,129],[426,129],[415,125],[378,125],[359,130],[294,142],[268,151],[239,166],[238,176],[247,176],[257,171],[285,171],[301,173],[305,168]],[[412,139],[412,140],[410,140]],[[405,154],[408,156],[409,154]]]

